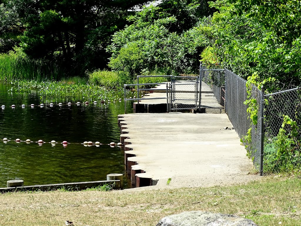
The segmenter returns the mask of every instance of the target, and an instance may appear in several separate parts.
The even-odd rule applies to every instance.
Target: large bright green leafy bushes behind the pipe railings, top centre
[[[129,17],[132,24],[116,32],[107,48],[109,66],[134,76],[156,67],[166,74],[196,72],[198,55],[208,43],[202,35],[208,30],[193,27],[204,14],[200,7],[197,1],[164,1]]]

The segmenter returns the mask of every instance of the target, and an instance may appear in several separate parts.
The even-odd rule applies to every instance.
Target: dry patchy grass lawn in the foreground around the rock
[[[0,194],[0,225],[153,225],[202,210],[264,225],[301,225],[301,180],[263,177],[245,185],[165,190],[16,192]]]

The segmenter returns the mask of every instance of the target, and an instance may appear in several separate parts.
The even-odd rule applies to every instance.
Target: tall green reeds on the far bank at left
[[[65,70],[58,63],[33,60],[26,56],[0,54],[0,81],[17,79],[58,80],[65,76]]]

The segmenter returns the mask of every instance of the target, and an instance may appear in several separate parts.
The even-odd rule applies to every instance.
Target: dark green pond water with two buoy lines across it
[[[61,107],[54,102],[53,107],[41,108],[37,106],[41,103],[38,93],[8,89],[0,85],[0,106],[5,105],[0,108],[0,187],[12,179],[24,180],[24,185],[106,180],[110,173],[123,173],[127,187],[123,149],[108,145],[119,142],[117,115],[124,113],[123,102],[68,106],[67,102],[83,102],[69,97],[57,99],[63,103]],[[13,104],[14,109],[10,107]],[[127,112],[132,112],[131,105],[129,102]],[[58,143],[5,143],[3,138]],[[63,141],[70,144],[64,147]],[[104,145],[84,146],[84,141]]]

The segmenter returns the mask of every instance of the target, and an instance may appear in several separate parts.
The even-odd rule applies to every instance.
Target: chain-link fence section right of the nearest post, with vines
[[[301,88],[266,94],[264,99],[263,172],[296,171],[301,165]]]

